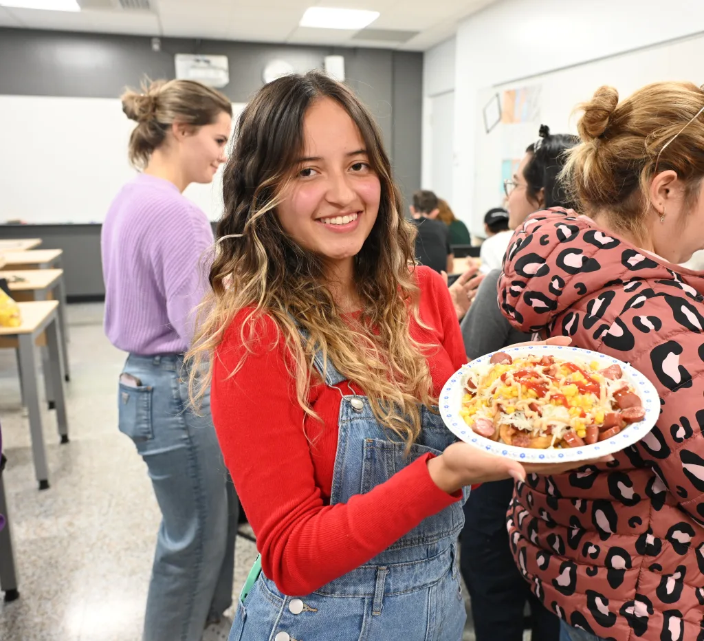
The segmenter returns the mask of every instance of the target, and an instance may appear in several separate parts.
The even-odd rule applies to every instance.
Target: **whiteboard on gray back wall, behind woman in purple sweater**
[[[243,108],[233,104],[233,117]],[[135,175],[127,161],[135,123],[119,99],[0,96],[0,122],[0,223],[102,223]],[[222,167],[184,195],[220,218]]]

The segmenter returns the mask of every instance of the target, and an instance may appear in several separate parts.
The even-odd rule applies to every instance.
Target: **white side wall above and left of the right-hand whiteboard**
[[[503,0],[460,23],[453,184],[463,188],[454,189],[455,213],[467,223],[481,214],[472,208],[480,89],[691,35],[702,25],[702,0]],[[672,60],[679,79],[678,64]]]

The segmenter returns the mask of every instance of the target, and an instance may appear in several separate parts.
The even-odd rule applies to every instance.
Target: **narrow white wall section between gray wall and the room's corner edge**
[[[453,126],[439,123],[446,116],[439,106],[451,99],[455,89],[455,39],[450,38],[425,52],[423,56],[423,116],[422,116],[422,162],[420,185],[422,189],[434,189],[441,197],[453,203]],[[441,126],[438,126],[441,125]],[[446,163],[439,167],[436,159],[447,154]],[[435,158],[435,161],[434,161]],[[434,175],[449,172],[438,183]],[[441,193],[442,192],[442,193]]]

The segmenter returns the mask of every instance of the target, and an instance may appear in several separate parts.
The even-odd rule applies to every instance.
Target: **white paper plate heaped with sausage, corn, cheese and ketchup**
[[[653,384],[627,363],[578,347],[507,347],[467,363],[440,394],[447,427],[522,463],[598,459],[641,440],[660,416]]]

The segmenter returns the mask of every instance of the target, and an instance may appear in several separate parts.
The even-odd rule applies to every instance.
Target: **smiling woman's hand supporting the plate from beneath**
[[[482,452],[470,444],[451,444],[440,456],[428,461],[428,472],[435,485],[448,494],[453,494],[467,485],[513,478],[524,483],[526,475],[562,474],[593,463],[612,461],[613,456],[602,456],[590,461],[572,463],[519,463],[504,456]]]

